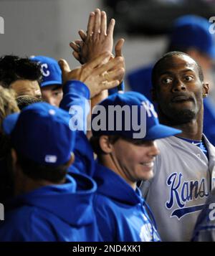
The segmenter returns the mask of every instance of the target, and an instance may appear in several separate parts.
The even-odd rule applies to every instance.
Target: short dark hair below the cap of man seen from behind
[[[68,172],[67,170],[70,166],[70,160],[59,166],[49,166],[32,161],[17,151],[16,153],[17,163],[19,163],[19,166],[21,166],[22,172],[34,180],[45,180],[58,183],[62,181],[62,179],[65,179]]]

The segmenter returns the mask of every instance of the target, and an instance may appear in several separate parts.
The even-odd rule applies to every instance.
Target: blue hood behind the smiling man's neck
[[[97,182],[97,193],[110,197],[124,204],[143,204],[140,189],[133,188],[118,174],[105,166],[95,163],[95,174],[93,179]]]

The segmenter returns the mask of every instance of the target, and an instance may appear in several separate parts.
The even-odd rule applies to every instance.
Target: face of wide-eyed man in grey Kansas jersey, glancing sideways
[[[156,73],[156,99],[161,115],[172,123],[188,123],[202,108],[203,82],[196,62],[186,55],[163,60]]]

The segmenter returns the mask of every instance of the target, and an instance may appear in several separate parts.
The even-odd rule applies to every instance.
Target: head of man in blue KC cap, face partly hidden
[[[30,60],[39,63],[42,72],[40,83],[42,99],[59,107],[62,100],[62,74],[56,60],[47,56],[32,56]]]

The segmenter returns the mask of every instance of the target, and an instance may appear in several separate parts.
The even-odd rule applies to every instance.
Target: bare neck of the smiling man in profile
[[[137,183],[135,181],[130,181],[128,179],[128,176],[123,172],[123,170],[120,168],[117,161],[115,161],[115,158],[112,157],[112,155],[107,154],[100,156],[98,158],[98,162],[102,164],[102,166],[107,167],[111,171],[115,172],[115,174],[118,174],[121,178],[123,178],[134,190],[137,187]]]

